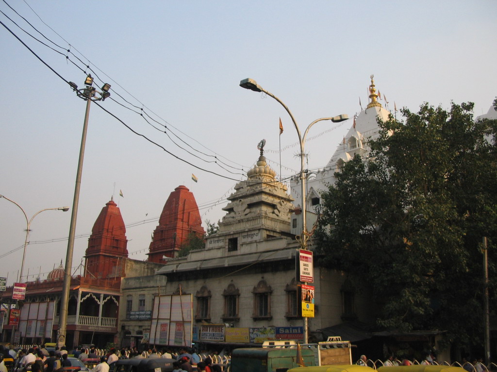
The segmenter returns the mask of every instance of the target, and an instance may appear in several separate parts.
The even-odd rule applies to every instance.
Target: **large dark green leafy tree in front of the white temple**
[[[405,122],[379,123],[370,158],[347,162],[323,195],[318,256],[357,288],[367,283],[378,329],[482,343],[484,236],[497,305],[497,125],[475,123],[472,110],[423,104],[402,110]]]

